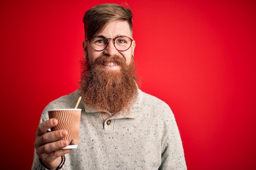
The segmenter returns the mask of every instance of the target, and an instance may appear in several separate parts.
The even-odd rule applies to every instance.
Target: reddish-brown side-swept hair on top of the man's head
[[[132,11],[128,4],[99,4],[83,16],[85,38],[91,38],[114,20],[127,21],[132,31]]]

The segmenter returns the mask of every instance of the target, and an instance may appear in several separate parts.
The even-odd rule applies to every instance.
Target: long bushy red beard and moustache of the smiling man
[[[102,68],[104,63],[115,63],[118,70]],[[114,114],[130,111],[138,93],[136,67],[133,59],[126,64],[124,58],[103,55],[94,62],[81,62],[80,92],[85,103]]]

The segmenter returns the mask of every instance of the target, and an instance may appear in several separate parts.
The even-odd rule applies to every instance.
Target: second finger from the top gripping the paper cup
[[[63,139],[67,136],[67,130],[55,130],[52,132],[44,133],[41,136],[36,137],[35,147],[43,146],[47,143],[51,143],[54,141],[58,141],[59,139]]]

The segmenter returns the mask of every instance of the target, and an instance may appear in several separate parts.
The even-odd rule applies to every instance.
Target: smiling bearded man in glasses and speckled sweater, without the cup
[[[137,86],[132,12],[117,4],[86,11],[81,88],[49,103],[36,131],[32,169],[186,170],[180,133],[169,106]],[[56,119],[47,110],[82,109],[79,146],[49,132]]]

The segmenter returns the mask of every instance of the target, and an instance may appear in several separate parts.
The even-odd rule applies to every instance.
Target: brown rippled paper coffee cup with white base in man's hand
[[[70,144],[62,149],[73,149],[78,146],[81,110],[80,108],[48,110],[49,119],[58,120],[58,124],[51,128],[51,131],[65,129],[68,132],[68,135],[60,140],[67,139]]]

